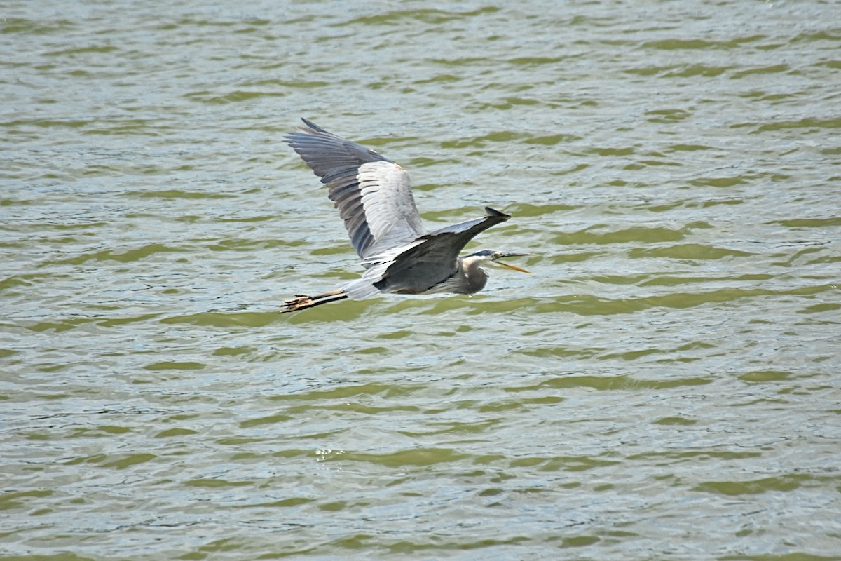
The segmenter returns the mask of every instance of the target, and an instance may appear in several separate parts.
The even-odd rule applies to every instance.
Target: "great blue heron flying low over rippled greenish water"
[[[405,169],[365,146],[303,120],[306,126],[284,140],[327,186],[328,196],[336,203],[351,243],[362,258],[362,267],[368,270],[362,278],[332,292],[296,294],[286,300],[282,314],[381,293],[473,294],[488,282],[488,273],[479,265],[489,262],[529,273],[497,261],[526,253],[484,250],[458,257],[473,236],[505,222],[510,214],[485,208],[487,215],[483,218],[427,232]]]

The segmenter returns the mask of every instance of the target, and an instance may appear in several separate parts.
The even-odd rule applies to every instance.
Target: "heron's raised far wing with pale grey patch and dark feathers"
[[[302,120],[306,126],[285,140],[327,186],[363,264],[426,234],[405,169]]]

